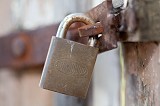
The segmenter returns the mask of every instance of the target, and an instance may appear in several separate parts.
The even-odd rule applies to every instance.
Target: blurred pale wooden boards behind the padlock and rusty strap
[[[0,0],[0,39],[11,37],[14,34],[10,33],[16,31],[57,24],[66,15],[86,12],[102,1]],[[6,46],[0,47],[0,53],[10,44],[6,41]],[[2,58],[3,54],[0,54],[0,60]],[[7,58],[5,61],[10,61]],[[42,69],[43,65],[21,69],[1,65],[0,106],[120,106],[119,49],[98,55],[86,100],[41,89],[38,84]]]

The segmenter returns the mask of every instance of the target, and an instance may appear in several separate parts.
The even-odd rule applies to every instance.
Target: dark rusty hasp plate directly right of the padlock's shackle
[[[102,36],[99,38],[100,52],[117,48],[120,15],[113,14],[112,10],[112,1],[106,0],[86,13],[95,22],[100,22],[104,28]]]

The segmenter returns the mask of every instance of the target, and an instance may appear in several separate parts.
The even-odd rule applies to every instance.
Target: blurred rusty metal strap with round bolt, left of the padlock
[[[24,68],[42,65],[51,36],[58,25],[20,31],[0,38],[0,67]]]

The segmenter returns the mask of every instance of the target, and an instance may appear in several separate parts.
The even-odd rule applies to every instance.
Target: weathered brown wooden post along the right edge
[[[126,79],[125,106],[160,106],[159,0],[130,0],[137,30],[123,43]],[[133,37],[134,36],[134,37]],[[133,43],[145,41],[143,43]]]

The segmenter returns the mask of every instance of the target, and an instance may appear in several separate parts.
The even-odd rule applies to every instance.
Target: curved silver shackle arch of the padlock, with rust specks
[[[90,17],[86,16],[83,13],[75,13],[66,16],[63,21],[60,23],[56,37],[65,38],[66,33],[71,24],[74,22],[83,22],[84,24],[94,24],[95,22]]]

